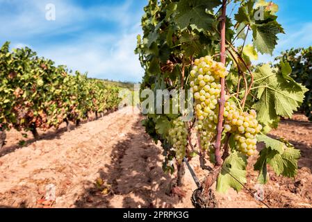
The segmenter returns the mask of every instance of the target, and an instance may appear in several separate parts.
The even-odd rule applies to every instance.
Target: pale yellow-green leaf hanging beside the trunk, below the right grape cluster
[[[246,166],[247,157],[237,151],[233,151],[231,155],[224,160],[222,170],[217,178],[217,191],[224,194],[230,187],[236,191],[240,191],[240,189],[243,188],[240,183],[244,184],[247,182]]]

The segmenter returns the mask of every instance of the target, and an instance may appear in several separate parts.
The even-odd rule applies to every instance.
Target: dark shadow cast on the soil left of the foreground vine
[[[139,130],[140,121],[133,126]],[[76,200],[76,207],[168,207],[179,198],[172,198],[161,194],[161,187],[169,185],[171,178],[158,167],[159,149],[153,144],[145,133],[129,133],[126,139],[118,142],[110,154],[112,164],[99,170],[99,177],[110,185],[108,194],[101,194],[102,189],[95,183],[85,189],[80,198]],[[154,186],[154,187],[153,187]],[[159,195],[161,194],[161,195]],[[153,201],[154,200],[154,201]],[[114,202],[120,202],[116,205]],[[169,203],[168,203],[169,202]]]

